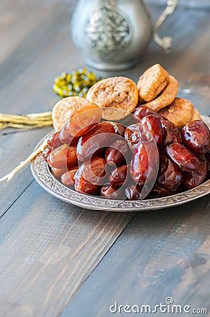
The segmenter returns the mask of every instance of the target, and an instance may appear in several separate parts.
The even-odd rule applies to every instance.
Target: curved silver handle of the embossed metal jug
[[[166,5],[165,10],[159,16],[159,18],[157,19],[157,21],[154,25],[153,39],[165,51],[169,51],[169,49],[171,48],[171,44],[172,44],[172,37],[166,36],[166,37],[161,38],[158,35],[158,30],[159,30],[159,27],[161,27],[161,25],[164,23],[164,20],[166,20],[167,16],[173,14],[173,11],[175,10],[175,8],[178,4],[178,0],[168,0],[166,2],[166,4],[167,5]]]

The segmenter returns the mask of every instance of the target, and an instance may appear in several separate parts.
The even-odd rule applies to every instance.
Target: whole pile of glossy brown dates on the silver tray
[[[102,120],[84,104],[48,138],[44,159],[55,178],[77,192],[109,199],[171,195],[210,178],[210,131],[202,120],[176,125],[148,106],[124,120]]]

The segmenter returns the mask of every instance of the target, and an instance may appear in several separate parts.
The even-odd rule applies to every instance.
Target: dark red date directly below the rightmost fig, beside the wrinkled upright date
[[[161,120],[161,124],[163,130],[162,147],[166,147],[171,143],[181,143],[181,137],[176,125],[168,120]]]

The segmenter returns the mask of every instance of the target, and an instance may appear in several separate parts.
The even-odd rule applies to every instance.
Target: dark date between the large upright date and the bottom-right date
[[[159,173],[155,184],[158,187],[166,189],[174,189],[181,185],[183,181],[183,173],[176,164],[171,162],[167,156],[160,157]]]

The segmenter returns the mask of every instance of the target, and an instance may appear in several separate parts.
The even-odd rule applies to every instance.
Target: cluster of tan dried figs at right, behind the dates
[[[178,81],[161,65],[155,64],[148,68],[140,76],[137,87],[140,104],[159,111],[178,129],[183,128],[191,120],[201,120],[199,111],[190,100],[176,97]]]

